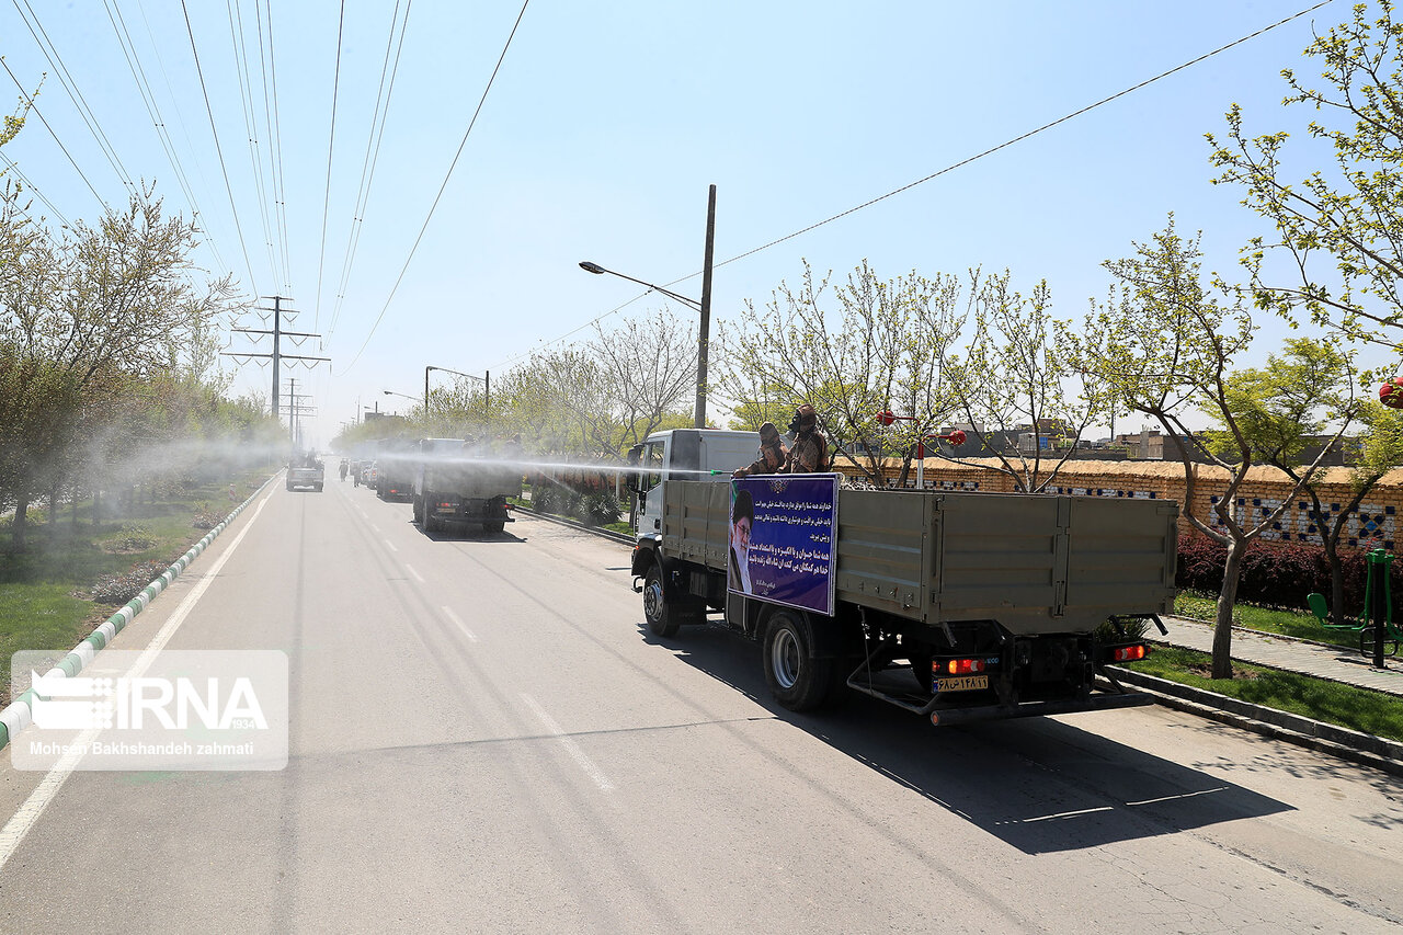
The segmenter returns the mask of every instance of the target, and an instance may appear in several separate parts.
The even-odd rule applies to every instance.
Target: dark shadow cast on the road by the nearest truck
[[[744,692],[776,720],[1024,854],[1079,851],[1294,810],[1068,720],[1027,717],[937,729],[856,692],[839,706],[794,713],[772,701],[756,644],[716,626],[683,628],[669,640],[654,637],[644,626],[640,630],[645,642]],[[1120,710],[1069,717],[1107,716],[1139,715]],[[1211,722],[1202,726],[1205,733],[1216,730],[1221,727]],[[1186,748],[1191,747],[1186,743]],[[1254,750],[1254,762],[1260,765],[1264,755]],[[828,776],[812,775],[810,781],[824,786]],[[919,814],[912,820],[919,827]]]

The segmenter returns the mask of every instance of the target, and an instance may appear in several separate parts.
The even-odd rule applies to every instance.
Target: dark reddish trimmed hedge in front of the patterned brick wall
[[[1367,576],[1365,553],[1360,549],[1340,549],[1344,566],[1344,605],[1348,612],[1364,606]],[[1205,594],[1218,594],[1223,587],[1223,563],[1228,546],[1208,536],[1188,536],[1179,542],[1179,573],[1174,583]],[[1393,594],[1403,594],[1403,562],[1389,566]],[[1306,606],[1312,591],[1330,597],[1330,566],[1324,560],[1324,546],[1305,542],[1264,542],[1254,539],[1242,560],[1237,599],[1271,608],[1299,611]]]

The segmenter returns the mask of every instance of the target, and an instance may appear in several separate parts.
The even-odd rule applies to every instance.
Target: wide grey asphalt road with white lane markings
[[[0,929],[1396,932],[1403,783],[1159,709],[933,729],[659,642],[627,546],[274,487],[118,637],[281,649],[292,758],[74,772]],[[0,767],[0,818],[43,774]],[[53,783],[52,778],[49,779]]]

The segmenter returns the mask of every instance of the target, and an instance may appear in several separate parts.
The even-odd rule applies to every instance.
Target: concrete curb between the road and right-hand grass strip
[[[1301,715],[1263,708],[1237,698],[1180,685],[1155,675],[1111,667],[1115,678],[1155,699],[1156,703],[1216,720],[1243,730],[1284,740],[1340,760],[1403,776],[1403,743],[1337,727]]]

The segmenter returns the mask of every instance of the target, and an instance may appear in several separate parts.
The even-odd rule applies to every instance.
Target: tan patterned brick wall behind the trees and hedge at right
[[[992,458],[972,459],[967,465],[955,465],[939,458],[927,458],[925,484],[927,490],[976,490],[984,493],[1012,493],[1013,479],[1006,473],[989,470],[978,465],[996,465]],[[842,468],[842,465],[839,465]],[[1194,465],[1193,512],[1200,519],[1216,524],[1214,507],[1228,489],[1230,475],[1215,465]],[[888,486],[895,486],[901,475],[901,462],[888,459],[884,470]],[[1352,497],[1348,468],[1327,468],[1316,475],[1316,489],[1326,512],[1338,515]],[[915,489],[916,469],[912,465],[906,487]],[[1256,525],[1254,517],[1266,517],[1291,491],[1294,482],[1277,468],[1251,468],[1247,479],[1237,489],[1233,515],[1244,525]],[[1048,493],[1090,496],[1090,497],[1134,497],[1148,500],[1173,500],[1184,510],[1184,465],[1167,460],[1069,460],[1062,465]],[[1319,543],[1315,524],[1309,515],[1309,500],[1292,498],[1285,512],[1263,532],[1261,538],[1277,542]],[[1403,514],[1403,469],[1395,469],[1364,497],[1345,526],[1343,545],[1361,549],[1393,549],[1403,532],[1399,515]],[[1188,519],[1180,517],[1181,536],[1195,535]]]

